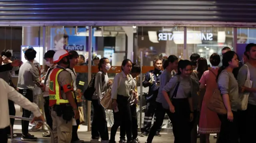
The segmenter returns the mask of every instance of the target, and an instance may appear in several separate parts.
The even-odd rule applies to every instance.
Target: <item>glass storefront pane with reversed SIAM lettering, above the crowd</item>
[[[210,55],[221,55],[223,47],[233,47],[233,28],[230,27],[187,27],[187,59],[198,53],[210,64]]]

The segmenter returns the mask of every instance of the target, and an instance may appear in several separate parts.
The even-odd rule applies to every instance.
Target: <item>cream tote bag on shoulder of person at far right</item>
[[[249,67],[247,65],[243,65],[247,67],[247,76],[246,76],[246,80],[244,82],[244,86],[248,87],[248,88],[252,88],[252,80],[250,80],[250,71],[249,71]],[[248,104],[248,98],[249,98],[250,92],[244,92],[244,93],[240,93],[239,95],[239,99],[240,99],[240,110],[246,110],[247,109],[247,104]]]

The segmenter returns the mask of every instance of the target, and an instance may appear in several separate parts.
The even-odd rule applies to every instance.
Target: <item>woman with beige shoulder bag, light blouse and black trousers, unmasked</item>
[[[114,124],[111,127],[109,143],[116,143],[115,136],[118,127],[125,125],[127,143],[132,141],[132,115],[130,110],[130,99],[137,97],[137,93],[132,89],[133,77],[130,74],[132,61],[125,59],[122,62],[122,72],[116,74],[112,85],[111,98],[114,113]]]

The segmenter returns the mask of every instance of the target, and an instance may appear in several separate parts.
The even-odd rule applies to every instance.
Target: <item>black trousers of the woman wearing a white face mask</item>
[[[94,109],[92,139],[98,139],[100,137],[102,141],[107,141],[109,137],[105,109],[98,100],[92,100],[92,105]]]

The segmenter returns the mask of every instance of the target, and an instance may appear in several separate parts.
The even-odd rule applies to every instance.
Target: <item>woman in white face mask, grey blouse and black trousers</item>
[[[91,143],[108,143],[108,126],[106,121],[106,113],[104,107],[100,104],[100,100],[112,84],[108,79],[108,71],[111,66],[108,58],[100,59],[98,64],[99,72],[95,76],[95,90],[92,96],[92,105],[94,109],[92,119],[92,138]]]

